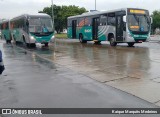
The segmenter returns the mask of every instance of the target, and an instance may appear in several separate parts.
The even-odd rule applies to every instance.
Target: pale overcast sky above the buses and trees
[[[96,0],[97,10],[117,8],[145,8],[153,12],[160,10],[160,0]],[[76,5],[87,10],[95,8],[95,0],[53,0],[56,5]],[[37,13],[50,6],[51,0],[0,0],[0,19],[12,18],[24,13]]]

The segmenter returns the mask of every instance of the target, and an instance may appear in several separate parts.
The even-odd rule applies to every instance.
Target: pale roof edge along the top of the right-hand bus
[[[86,12],[81,15],[70,16],[70,17],[68,17],[68,19],[77,18],[77,17],[92,16],[92,15],[99,15],[99,14],[103,14],[103,13],[112,13],[112,12],[117,12],[117,11],[126,11],[127,9],[146,10],[146,9],[140,9],[140,8],[121,8],[121,9],[108,10],[108,11],[93,11],[93,12]]]

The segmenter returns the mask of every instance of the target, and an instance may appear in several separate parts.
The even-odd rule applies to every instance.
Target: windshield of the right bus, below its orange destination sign
[[[137,32],[148,32],[150,29],[150,19],[147,15],[131,14],[128,15],[129,30]]]

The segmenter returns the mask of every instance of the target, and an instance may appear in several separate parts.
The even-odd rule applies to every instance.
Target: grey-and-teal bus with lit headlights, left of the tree
[[[35,47],[36,43],[48,46],[54,40],[52,19],[49,15],[21,15],[11,20],[12,37],[16,42]]]

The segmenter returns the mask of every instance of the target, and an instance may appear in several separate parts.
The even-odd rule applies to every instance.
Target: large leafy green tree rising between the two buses
[[[60,33],[63,29],[67,28],[67,17],[80,15],[84,12],[87,12],[85,8],[79,8],[75,5],[70,6],[56,6],[53,5],[53,13],[54,13],[54,26],[57,33]],[[39,13],[46,13],[52,17],[52,6],[45,7],[43,11]]]

